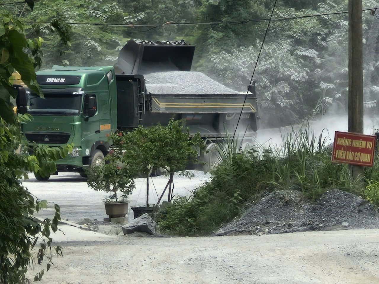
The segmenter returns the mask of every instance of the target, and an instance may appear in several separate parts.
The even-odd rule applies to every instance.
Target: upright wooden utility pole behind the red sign
[[[349,0],[349,132],[363,133],[362,0]],[[354,179],[363,167],[351,166]]]

